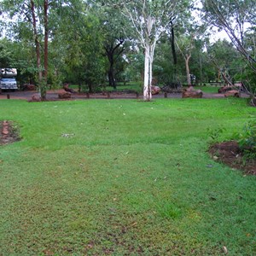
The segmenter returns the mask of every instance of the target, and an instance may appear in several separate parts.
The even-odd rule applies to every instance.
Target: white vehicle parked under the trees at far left
[[[17,69],[16,68],[0,68],[0,89],[17,90]]]

